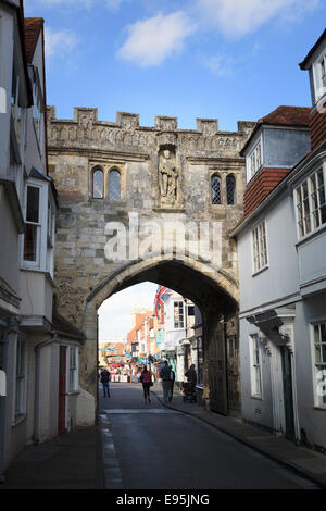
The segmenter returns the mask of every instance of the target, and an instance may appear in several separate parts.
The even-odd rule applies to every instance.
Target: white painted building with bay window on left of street
[[[87,406],[78,389],[80,333],[53,312],[58,203],[47,169],[43,20],[24,18],[20,1],[1,1],[0,23],[3,477],[26,444],[83,423]]]

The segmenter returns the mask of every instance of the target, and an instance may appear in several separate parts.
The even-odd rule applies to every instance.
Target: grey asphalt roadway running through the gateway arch
[[[154,391],[162,398],[159,384]],[[140,384],[113,383],[111,398],[100,387],[99,409],[111,424],[123,488],[316,488],[202,421],[163,407],[153,394],[145,404]]]

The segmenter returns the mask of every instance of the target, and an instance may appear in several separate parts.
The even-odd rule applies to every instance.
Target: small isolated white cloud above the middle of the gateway
[[[141,67],[161,64],[172,53],[183,49],[185,39],[193,33],[195,24],[181,11],[136,22],[127,27],[129,36],[118,50],[122,59]]]

